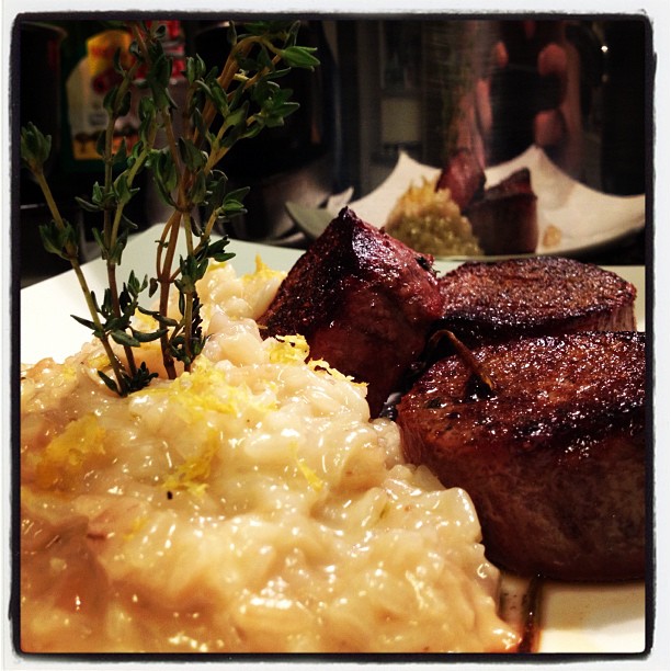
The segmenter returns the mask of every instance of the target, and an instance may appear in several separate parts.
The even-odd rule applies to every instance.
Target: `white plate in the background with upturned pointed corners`
[[[537,254],[585,253],[626,238],[645,226],[645,195],[613,196],[589,189],[559,170],[543,149],[535,146],[511,161],[488,168],[486,185],[493,186],[521,168],[528,168],[532,189],[538,197]],[[421,184],[422,179],[432,180],[439,173],[437,168],[401,152],[389,177],[365,197],[349,203],[349,207],[364,221],[382,227],[410,184]],[[296,203],[287,203],[287,211],[310,238],[317,237],[338,214],[333,206],[319,209]],[[545,244],[545,234],[550,226],[558,232],[559,240]]]

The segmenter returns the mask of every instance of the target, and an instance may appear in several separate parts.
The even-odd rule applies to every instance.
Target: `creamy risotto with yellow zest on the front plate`
[[[468,496],[217,265],[190,374],[114,396],[86,345],[22,373],[24,651],[505,651]],[[147,350],[146,357],[157,356]]]

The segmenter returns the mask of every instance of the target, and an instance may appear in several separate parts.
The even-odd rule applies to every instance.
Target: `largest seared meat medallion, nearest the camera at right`
[[[398,406],[408,460],[464,488],[490,560],[521,575],[645,570],[645,334],[523,338],[444,359]]]

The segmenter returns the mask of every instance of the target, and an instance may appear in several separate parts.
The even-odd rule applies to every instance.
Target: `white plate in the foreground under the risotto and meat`
[[[124,253],[123,268],[136,274],[152,274],[155,240],[158,228],[136,236]],[[231,261],[238,274],[252,272],[258,255],[271,268],[287,271],[299,251],[232,240],[228,247],[236,253]],[[456,268],[452,261],[436,262],[436,270]],[[634,283],[638,289],[635,311],[638,328],[645,328],[645,273],[641,266],[612,269]],[[84,266],[91,287],[102,292],[104,264],[92,261]],[[126,273],[124,273],[126,274]],[[77,352],[89,338],[87,329],[69,317],[84,315],[77,280],[67,272],[21,292],[20,356],[23,363],[36,363],[50,356],[62,361]],[[49,325],[48,332],[45,325]],[[504,587],[515,591],[518,581],[507,579]],[[645,650],[645,585],[575,585],[547,582],[541,604],[541,652],[637,653]]]

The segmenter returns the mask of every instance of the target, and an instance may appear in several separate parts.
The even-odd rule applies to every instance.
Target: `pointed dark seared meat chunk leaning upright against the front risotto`
[[[262,333],[304,336],[312,359],[368,384],[375,417],[442,317],[432,261],[343,208],[289,271]]]

